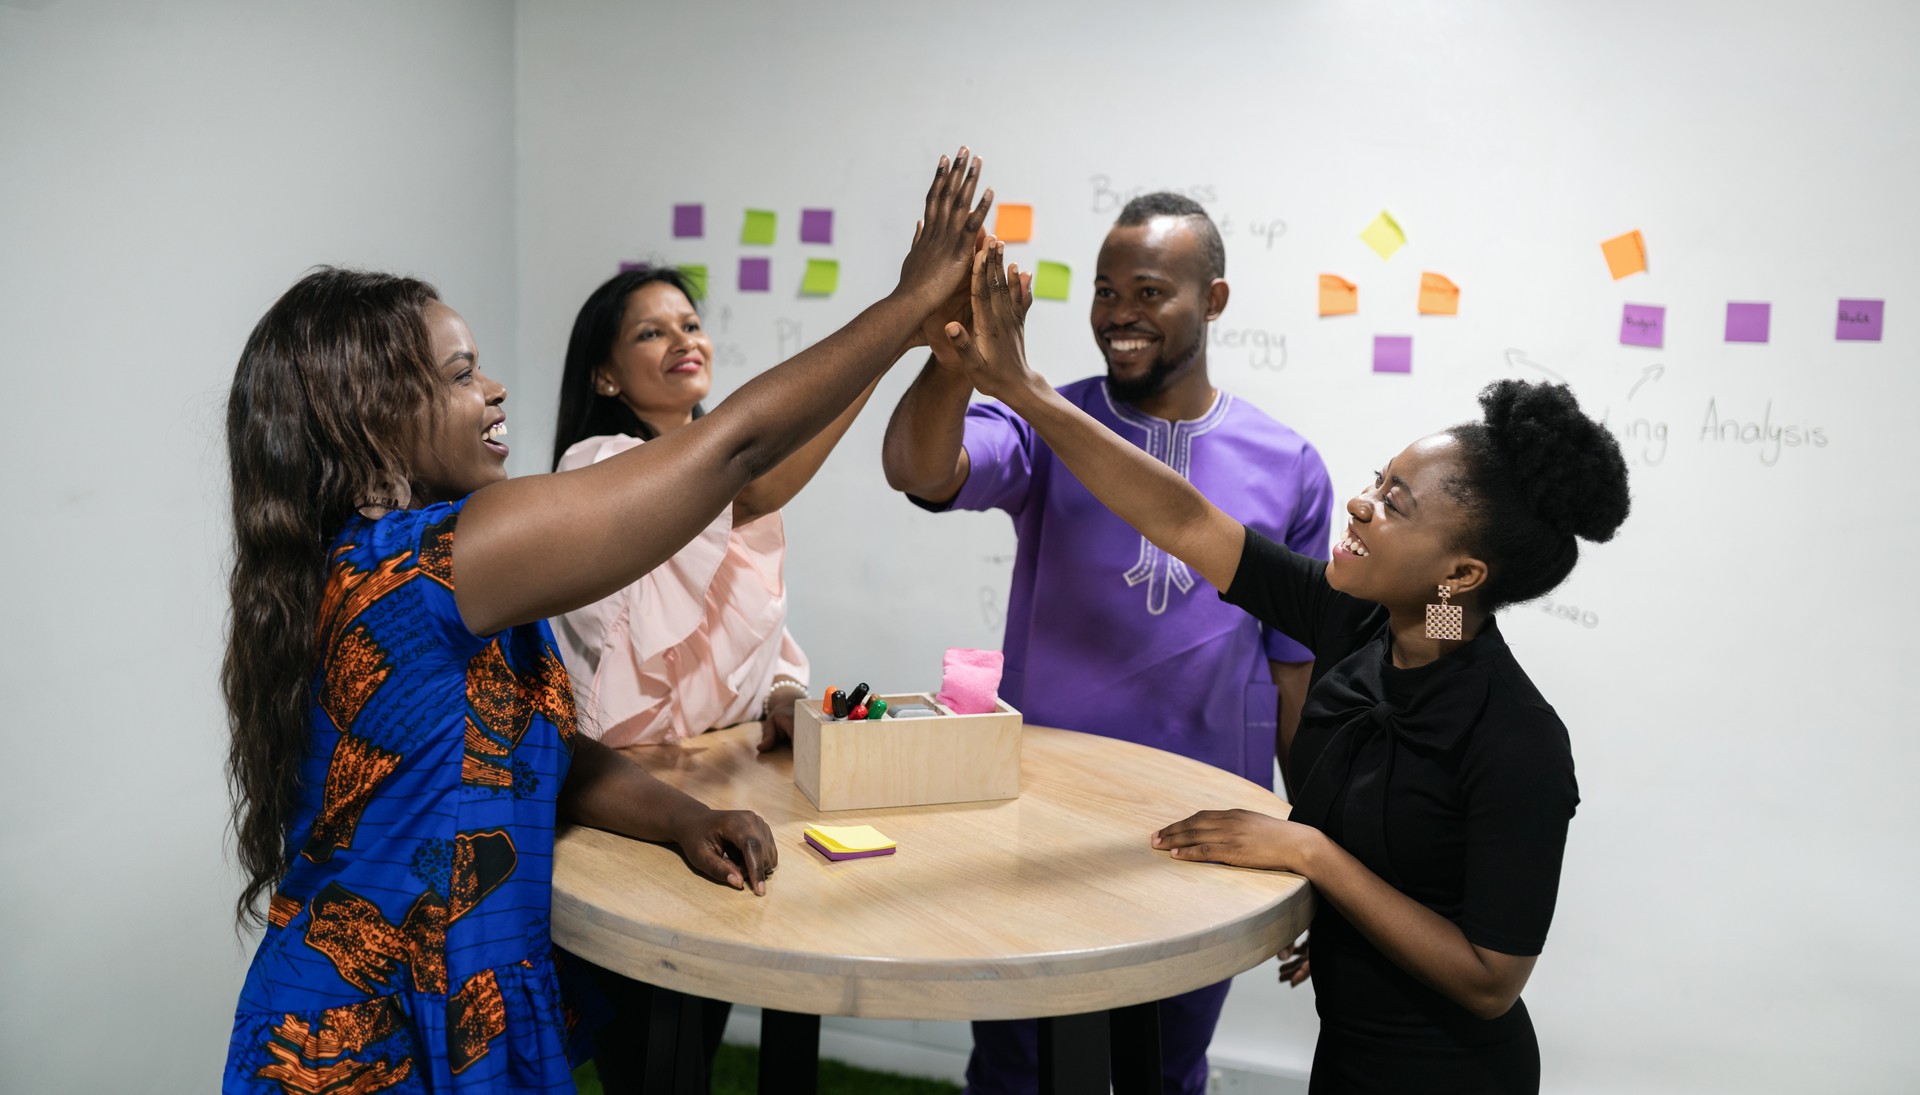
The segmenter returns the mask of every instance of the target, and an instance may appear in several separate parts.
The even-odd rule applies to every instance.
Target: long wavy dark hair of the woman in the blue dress
[[[361,505],[409,482],[432,421],[424,309],[434,286],[321,267],[253,327],[227,398],[232,615],[221,688],[227,786],[246,888],[240,924],[292,864],[300,768],[313,734],[321,590],[334,536]]]

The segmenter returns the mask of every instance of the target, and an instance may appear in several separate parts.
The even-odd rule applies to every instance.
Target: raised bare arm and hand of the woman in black
[[[1018,269],[1010,277],[1004,261],[1006,246],[998,240],[989,240],[987,250],[975,256],[973,330],[958,323],[945,327],[933,342],[941,367],[966,375],[981,394],[1012,407],[1068,471],[1140,536],[1192,567],[1213,588],[1231,586],[1246,544],[1244,526],[1171,467],[1066,402],[1027,367],[1021,323],[1027,282]]]

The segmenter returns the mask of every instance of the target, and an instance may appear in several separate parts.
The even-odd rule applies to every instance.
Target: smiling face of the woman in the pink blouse
[[[593,390],[618,396],[639,421],[666,432],[693,421],[693,405],[712,388],[714,344],[693,302],[666,282],[647,282],[626,298],[612,353],[593,371]]]

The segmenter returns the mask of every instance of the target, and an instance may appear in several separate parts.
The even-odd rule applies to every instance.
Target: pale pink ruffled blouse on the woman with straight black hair
[[[588,438],[561,471],[641,444]],[[728,507],[632,586],[557,617],[580,730],[614,747],[676,742],[758,718],[774,674],[804,684],[806,655],[787,634],[785,557],[780,513],[733,528]]]

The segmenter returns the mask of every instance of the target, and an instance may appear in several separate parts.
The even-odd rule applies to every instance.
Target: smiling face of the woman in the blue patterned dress
[[[507,388],[480,371],[474,336],[461,313],[430,302],[422,319],[438,369],[438,405],[415,440],[413,501],[467,498],[507,478]]]

